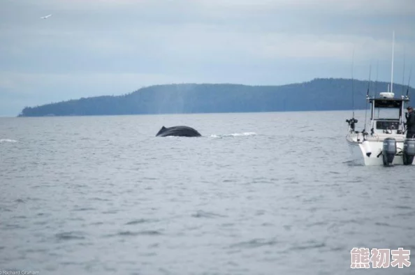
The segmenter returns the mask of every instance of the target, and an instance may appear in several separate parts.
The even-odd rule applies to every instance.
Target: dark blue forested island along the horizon
[[[352,89],[353,83],[353,89]],[[163,84],[122,96],[96,96],[24,107],[19,117],[207,112],[282,112],[365,109],[365,96],[388,91],[388,82],[319,78],[281,86]],[[353,91],[353,92],[352,92]],[[395,96],[407,86],[393,84]],[[352,106],[354,94],[354,106]],[[409,87],[409,95],[414,89]]]

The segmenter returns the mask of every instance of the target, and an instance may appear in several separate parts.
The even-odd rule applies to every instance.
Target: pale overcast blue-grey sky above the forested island
[[[414,0],[0,0],[0,116],[152,84],[351,78],[353,55],[355,78],[390,82],[393,30],[394,82],[405,56],[414,87]]]

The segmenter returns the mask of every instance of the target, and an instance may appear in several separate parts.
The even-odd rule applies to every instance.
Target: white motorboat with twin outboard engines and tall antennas
[[[393,34],[394,38],[395,34]],[[408,84],[409,87],[409,84]],[[409,91],[409,90],[408,90]],[[393,50],[391,91],[381,92],[379,97],[370,97],[370,133],[356,131],[357,119],[347,119],[349,133],[346,136],[351,151],[351,161],[357,165],[415,165],[415,138],[406,137],[405,105],[406,96],[395,98],[393,93]],[[366,121],[365,121],[366,122]]]

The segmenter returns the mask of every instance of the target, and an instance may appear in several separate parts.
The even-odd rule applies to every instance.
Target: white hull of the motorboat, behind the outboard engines
[[[402,149],[405,137],[393,137],[396,140],[397,154],[393,158],[392,165],[403,165]],[[372,138],[365,143],[358,141],[355,135],[347,135],[347,144],[351,154],[351,162],[354,165],[384,165],[382,155],[384,138]],[[370,153],[370,154],[368,154]],[[412,162],[415,165],[415,161]]]

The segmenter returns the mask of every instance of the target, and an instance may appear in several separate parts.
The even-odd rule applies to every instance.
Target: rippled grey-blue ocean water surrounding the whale
[[[415,274],[350,267],[415,251],[415,170],[351,165],[350,117],[0,118],[0,272]]]

